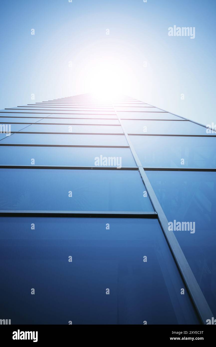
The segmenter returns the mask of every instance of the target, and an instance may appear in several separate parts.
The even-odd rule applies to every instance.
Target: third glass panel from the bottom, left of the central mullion
[[[95,166],[95,157],[121,157],[122,167],[135,167],[129,148],[0,146],[0,165]]]

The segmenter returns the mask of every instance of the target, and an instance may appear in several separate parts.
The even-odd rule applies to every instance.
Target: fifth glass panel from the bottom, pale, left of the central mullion
[[[12,125],[11,125],[12,128]],[[24,132],[44,132],[44,133],[105,133],[123,134],[121,126],[103,125],[43,125],[33,124],[23,130]]]

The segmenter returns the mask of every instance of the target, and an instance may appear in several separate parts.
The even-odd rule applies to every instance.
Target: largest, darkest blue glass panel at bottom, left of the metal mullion
[[[0,228],[11,324],[198,323],[157,220],[1,217]]]

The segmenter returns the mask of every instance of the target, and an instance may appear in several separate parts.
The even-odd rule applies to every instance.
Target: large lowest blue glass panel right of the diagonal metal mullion
[[[168,222],[195,222],[174,234],[216,316],[216,172],[146,173]]]

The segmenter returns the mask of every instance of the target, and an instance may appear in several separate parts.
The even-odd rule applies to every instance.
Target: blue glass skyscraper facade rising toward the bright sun
[[[0,319],[216,316],[213,129],[122,96],[0,111]]]

